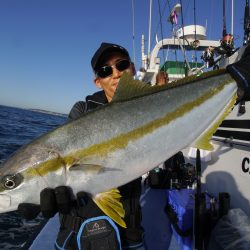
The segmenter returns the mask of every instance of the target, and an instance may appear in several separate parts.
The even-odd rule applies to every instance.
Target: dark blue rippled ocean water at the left
[[[22,145],[63,124],[67,117],[0,105],[0,163]],[[44,219],[25,220],[17,212],[0,214],[0,249],[22,249]]]

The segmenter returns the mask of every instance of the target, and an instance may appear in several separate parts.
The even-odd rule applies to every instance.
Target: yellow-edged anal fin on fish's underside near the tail
[[[194,142],[192,145],[195,148],[204,149],[208,151],[213,150],[213,145],[210,143],[210,139],[213,134],[217,130],[217,128],[221,125],[227,115],[231,112],[235,102],[237,99],[237,95],[235,94],[228,105],[224,108],[223,112],[221,112],[220,116],[213,122],[213,124]]]

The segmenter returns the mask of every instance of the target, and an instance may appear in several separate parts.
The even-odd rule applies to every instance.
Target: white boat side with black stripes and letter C
[[[235,106],[227,117],[228,127],[221,126],[215,133],[220,136],[212,138],[214,150],[201,151],[201,181],[204,191],[215,197],[228,192],[231,208],[241,208],[250,216],[250,102],[244,114],[239,114],[238,108]],[[195,149],[183,152],[188,162],[195,163]]]

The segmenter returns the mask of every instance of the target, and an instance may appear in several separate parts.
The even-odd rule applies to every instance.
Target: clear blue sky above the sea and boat
[[[135,64],[141,66],[141,35],[148,39],[149,0],[134,0]],[[151,49],[161,39],[159,7],[153,0]],[[179,1],[169,1],[172,8]],[[184,24],[194,22],[193,1],[182,0]],[[235,2],[234,35],[242,44],[245,0]],[[171,36],[162,17],[164,37]],[[126,47],[133,58],[132,0],[1,0],[0,104],[68,113],[72,105],[97,91],[90,60],[101,42]],[[196,0],[196,21],[207,36],[220,40],[222,0]],[[181,19],[179,18],[179,23]],[[231,31],[231,0],[227,0]],[[147,41],[145,51],[147,52]]]

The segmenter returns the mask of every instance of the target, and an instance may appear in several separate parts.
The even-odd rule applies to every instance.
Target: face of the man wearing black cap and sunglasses
[[[134,69],[134,65],[132,63],[130,63],[129,67],[123,71],[119,71],[116,68],[116,64],[122,60],[129,60],[129,58],[127,56],[125,56],[124,54],[120,53],[120,52],[114,52],[112,54],[109,55],[109,57],[107,58],[107,60],[105,60],[105,62],[103,63],[103,66],[112,66],[112,74],[102,78],[100,76],[96,76],[94,82],[96,84],[96,86],[100,89],[103,89],[105,92],[105,95],[108,99],[108,102],[110,102],[114,96],[116,87],[118,85],[118,82],[121,78],[121,76],[123,75],[124,72],[128,72],[131,75],[134,75],[135,73],[135,69]]]

